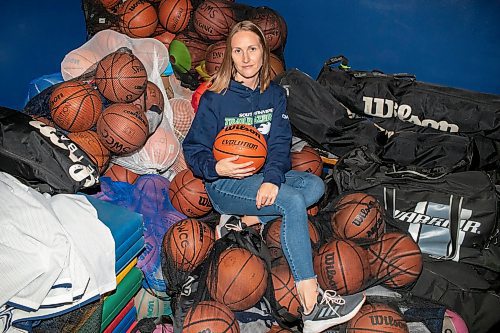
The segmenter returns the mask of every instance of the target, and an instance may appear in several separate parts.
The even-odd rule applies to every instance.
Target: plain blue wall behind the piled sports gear
[[[316,77],[343,54],[355,69],[500,94],[500,0],[237,0],[280,12],[285,58]],[[22,108],[31,79],[85,42],[79,0],[0,4],[0,105]]]

